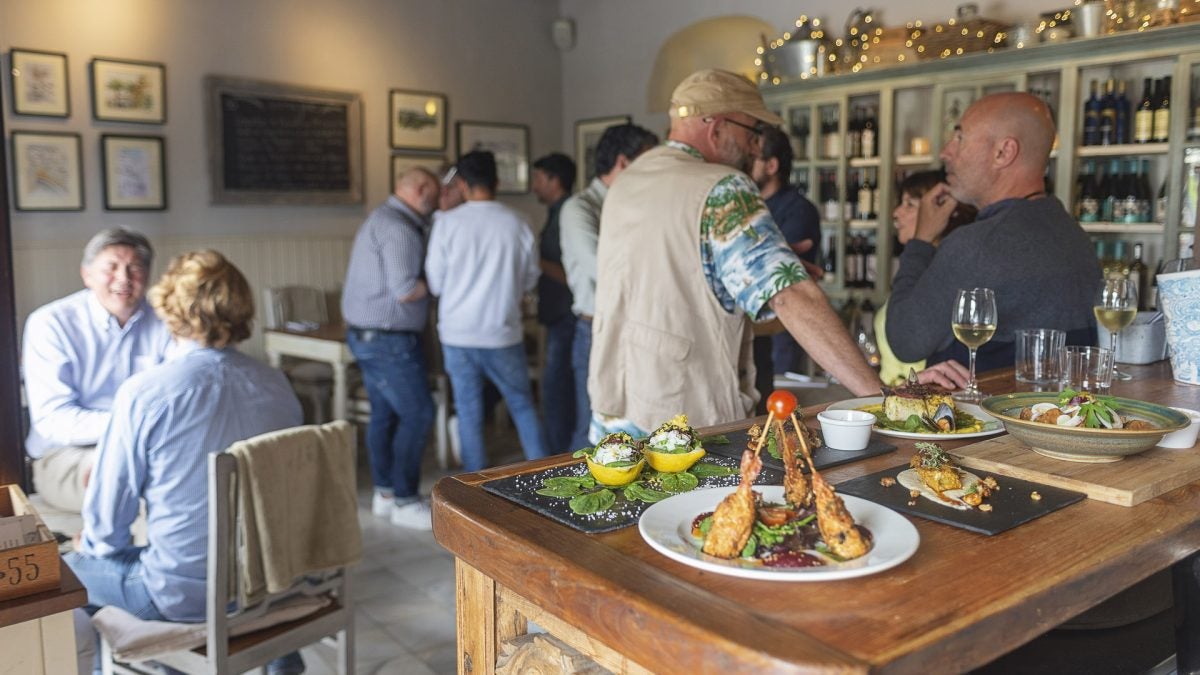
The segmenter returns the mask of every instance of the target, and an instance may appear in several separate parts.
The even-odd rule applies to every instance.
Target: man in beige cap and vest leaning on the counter
[[[750,321],[775,318],[856,395],[866,364],[746,175],[768,110],[748,79],[702,70],[671,96],[667,142],[613,181],[600,220],[588,393],[592,441],[644,436],[680,412],[696,426],[750,414]],[[923,380],[965,382],[964,369]]]

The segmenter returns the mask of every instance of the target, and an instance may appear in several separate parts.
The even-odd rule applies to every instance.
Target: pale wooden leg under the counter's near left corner
[[[455,558],[458,675],[496,671],[496,581]]]

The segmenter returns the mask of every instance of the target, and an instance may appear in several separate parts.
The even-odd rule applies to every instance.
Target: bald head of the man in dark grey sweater
[[[1037,96],[1013,91],[979,98],[942,149],[952,195],[983,208],[1040,192],[1054,136],[1054,118]]]

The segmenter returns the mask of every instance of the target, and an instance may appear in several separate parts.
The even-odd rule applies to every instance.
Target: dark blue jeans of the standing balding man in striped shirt
[[[367,452],[376,488],[397,500],[418,496],[421,456],[433,425],[433,398],[421,338],[350,329],[346,335],[371,401]]]

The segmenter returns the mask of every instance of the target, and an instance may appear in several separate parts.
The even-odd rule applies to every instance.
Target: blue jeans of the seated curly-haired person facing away
[[[142,580],[143,548],[126,549],[112,556],[96,557],[71,551],[62,560],[74,572],[76,577],[88,589],[88,604],[83,608],[89,615],[100,608],[115,605],[143,621],[170,621],[155,607],[150,591]],[[95,674],[101,673],[100,639],[96,640],[96,659],[92,664]],[[163,667],[168,674],[179,673],[174,668]],[[268,664],[271,673],[299,673],[304,670],[304,657],[292,652],[276,658]]]

